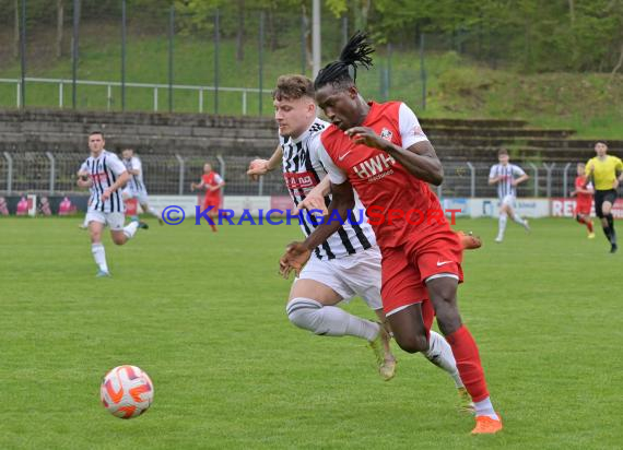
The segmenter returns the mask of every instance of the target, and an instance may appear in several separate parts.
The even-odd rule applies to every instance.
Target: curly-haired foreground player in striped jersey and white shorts
[[[316,118],[314,85],[303,75],[284,75],[273,93],[280,146],[269,159],[251,162],[248,174],[257,177],[283,163],[283,176],[294,204],[298,209],[325,209],[330,203],[329,179],[318,156],[319,138],[328,122]],[[396,359],[388,345],[384,327],[336,307],[356,295],[385,323],[380,300],[380,251],[371,225],[360,220],[363,205],[357,201],[352,211],[354,221],[314,250],[315,258],[294,281],[286,305],[292,323],[316,334],[352,335],[367,340],[377,355],[379,372],[386,380],[395,375]],[[303,233],[308,236],[318,226],[310,214],[303,214]],[[355,222],[360,222],[356,224]],[[381,350],[384,348],[384,352]],[[458,375],[451,350],[438,333],[431,332],[431,347],[425,355],[455,379]]]

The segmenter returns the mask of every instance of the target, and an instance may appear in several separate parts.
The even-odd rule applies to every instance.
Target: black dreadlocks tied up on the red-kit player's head
[[[371,54],[374,52],[367,40],[367,34],[356,32],[348,42],[337,61],[330,62],[318,72],[314,81],[314,88],[322,87],[326,84],[352,85],[357,78],[357,66],[369,69],[373,66]],[[353,76],[349,73],[349,68],[353,68]]]

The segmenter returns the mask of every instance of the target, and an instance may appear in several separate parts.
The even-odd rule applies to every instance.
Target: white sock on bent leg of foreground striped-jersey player
[[[378,323],[361,319],[334,306],[324,306],[312,298],[293,298],[285,306],[285,312],[296,327],[320,335],[350,335],[374,341],[380,332]]]

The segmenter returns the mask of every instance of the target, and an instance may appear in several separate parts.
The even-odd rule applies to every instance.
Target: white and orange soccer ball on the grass
[[[137,366],[119,366],[109,370],[99,388],[102,404],[120,418],[140,416],[154,400],[152,380]]]

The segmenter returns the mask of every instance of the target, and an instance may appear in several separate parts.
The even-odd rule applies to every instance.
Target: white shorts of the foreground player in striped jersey
[[[358,295],[372,309],[381,309],[380,259],[377,246],[344,258],[319,260],[312,257],[296,280],[322,283],[344,300]]]

